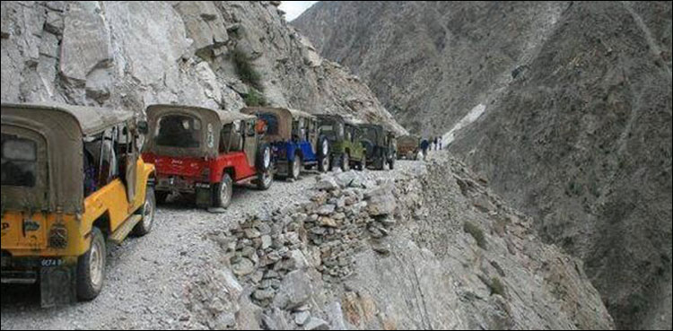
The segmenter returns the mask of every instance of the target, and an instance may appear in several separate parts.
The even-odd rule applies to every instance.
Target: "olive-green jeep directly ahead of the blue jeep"
[[[329,169],[338,165],[347,171],[353,165],[357,170],[363,170],[367,156],[358,126],[340,115],[319,114],[317,117],[320,135],[328,138],[331,147]]]

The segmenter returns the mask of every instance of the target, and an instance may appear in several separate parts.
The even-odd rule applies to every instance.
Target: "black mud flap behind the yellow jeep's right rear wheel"
[[[39,270],[42,308],[71,304],[77,300],[77,267],[43,266]]]

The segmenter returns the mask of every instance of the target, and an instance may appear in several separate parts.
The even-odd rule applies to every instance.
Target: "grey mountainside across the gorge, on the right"
[[[670,3],[323,2],[293,25],[400,123],[455,139],[618,327],[670,328]]]

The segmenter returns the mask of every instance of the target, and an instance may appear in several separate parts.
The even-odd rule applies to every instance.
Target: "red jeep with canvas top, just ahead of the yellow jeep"
[[[178,105],[152,105],[146,113],[143,160],[156,168],[157,202],[178,192],[195,194],[198,206],[226,208],[233,184],[271,187],[271,148],[256,117]]]

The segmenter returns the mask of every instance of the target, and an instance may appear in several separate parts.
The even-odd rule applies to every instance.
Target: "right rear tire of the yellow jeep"
[[[92,244],[89,250],[77,258],[77,299],[96,299],[105,283],[105,259],[107,248],[105,238],[98,228],[92,228]]]

